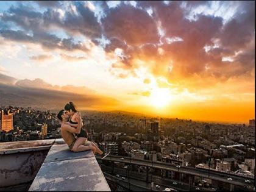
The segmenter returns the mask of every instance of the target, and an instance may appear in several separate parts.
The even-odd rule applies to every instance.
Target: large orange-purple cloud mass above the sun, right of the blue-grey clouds
[[[185,8],[179,1],[169,4],[138,1],[137,7],[142,9],[121,3],[115,9],[110,9],[110,13],[102,20],[105,35],[111,42],[105,51],[121,48],[124,55],[129,56],[126,62],[123,60],[125,65],[118,63],[112,65],[113,68],[123,66],[133,73],[133,69],[137,67],[133,60],[141,59],[153,74],[164,75],[169,79],[193,74],[228,79],[248,73],[254,68],[254,46],[253,49],[244,49],[254,35],[254,2],[237,3],[241,4],[240,10],[226,24],[223,18],[213,15],[197,14],[196,20],[186,18],[188,11],[199,5],[210,7],[210,2],[206,1],[187,1]],[[228,7],[229,4],[223,3],[222,6]],[[152,9],[152,17],[146,12],[149,8]],[[165,32],[161,38],[162,44],[159,44],[157,27]],[[166,38],[174,37],[179,37],[182,41],[168,44]],[[219,40],[219,47],[205,52],[204,47],[214,46],[214,40]],[[159,54],[159,48],[162,54]],[[235,55],[240,50],[243,50],[243,54]],[[222,61],[222,57],[227,56],[232,56],[233,62]],[[173,65],[172,70],[168,71],[170,61]]]

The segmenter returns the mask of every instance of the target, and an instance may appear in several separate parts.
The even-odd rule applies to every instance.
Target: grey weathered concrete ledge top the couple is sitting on
[[[93,152],[71,152],[56,139],[29,191],[110,191]]]

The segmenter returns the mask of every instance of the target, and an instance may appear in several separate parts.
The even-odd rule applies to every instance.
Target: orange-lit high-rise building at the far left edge
[[[0,130],[1,132],[13,130],[13,114],[9,110],[0,111]]]

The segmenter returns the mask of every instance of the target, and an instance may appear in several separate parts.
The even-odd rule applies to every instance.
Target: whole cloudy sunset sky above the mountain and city
[[[255,118],[254,7],[1,1],[0,74],[86,87],[118,100],[112,110],[248,123]]]

